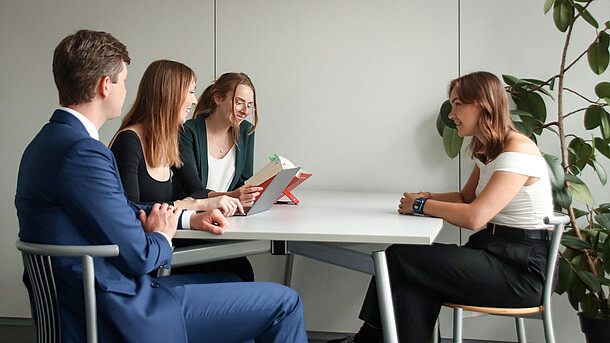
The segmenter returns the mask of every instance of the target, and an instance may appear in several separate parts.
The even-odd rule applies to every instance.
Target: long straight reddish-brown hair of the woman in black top
[[[117,134],[128,126],[139,124],[142,150],[153,168],[182,166],[178,150],[179,112],[195,79],[191,68],[169,60],[151,63],[142,76],[136,100]]]

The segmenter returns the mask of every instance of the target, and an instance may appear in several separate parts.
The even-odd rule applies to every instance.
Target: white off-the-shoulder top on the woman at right
[[[503,152],[488,164],[477,159],[475,163],[480,170],[476,196],[481,194],[496,171],[538,178],[533,184],[523,186],[508,205],[490,220],[491,223],[522,229],[548,227],[542,220],[553,213],[553,194],[544,157],[521,152]]]

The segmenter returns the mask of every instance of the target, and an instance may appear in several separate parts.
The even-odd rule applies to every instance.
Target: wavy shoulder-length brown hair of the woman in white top
[[[472,137],[469,146],[472,158],[483,163],[494,160],[502,152],[511,132],[516,131],[504,86],[495,75],[479,71],[451,81],[449,94],[454,89],[463,103],[475,104],[481,110],[479,129],[487,142]]]

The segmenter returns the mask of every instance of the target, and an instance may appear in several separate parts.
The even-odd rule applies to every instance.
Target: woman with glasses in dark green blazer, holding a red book
[[[253,124],[245,120],[249,115]],[[251,206],[260,195],[261,187],[244,185],[253,174],[257,123],[256,90],[246,74],[225,73],[201,94],[193,119],[180,132],[180,149],[182,160],[197,169],[208,197],[228,195],[238,198],[244,206]],[[176,199],[184,195],[180,183],[174,182]],[[254,280],[252,266],[245,257],[203,266],[208,267],[203,271],[229,271],[244,281]],[[201,267],[182,268],[184,272],[201,272]]]

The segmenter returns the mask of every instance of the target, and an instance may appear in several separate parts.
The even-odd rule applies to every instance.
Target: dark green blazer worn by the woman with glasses
[[[194,166],[199,174],[203,186],[208,192],[208,139],[205,127],[205,116],[200,115],[195,119],[189,119],[180,130],[180,153],[185,165]],[[254,133],[252,124],[244,120],[239,125],[239,136],[237,138],[237,156],[235,158],[235,176],[229,185],[229,191],[243,186],[244,181],[249,179],[254,172]],[[187,166],[188,168],[188,166]],[[180,182],[174,184],[174,199],[183,199],[187,195],[182,191]]]

